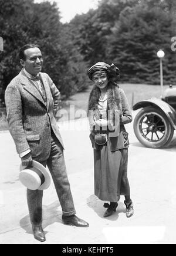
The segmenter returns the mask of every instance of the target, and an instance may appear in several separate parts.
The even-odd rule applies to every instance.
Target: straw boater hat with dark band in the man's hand
[[[41,163],[32,160],[32,166],[22,166],[21,163],[19,169],[19,180],[28,189],[43,190],[49,187],[50,175]]]

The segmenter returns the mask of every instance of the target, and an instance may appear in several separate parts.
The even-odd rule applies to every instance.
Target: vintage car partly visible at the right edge
[[[166,147],[176,129],[176,87],[167,88],[161,99],[140,101],[133,110],[141,109],[134,119],[134,133],[146,147]]]

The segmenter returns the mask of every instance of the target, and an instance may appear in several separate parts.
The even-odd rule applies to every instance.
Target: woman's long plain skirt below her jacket
[[[111,152],[109,141],[94,149],[94,194],[103,201],[117,202],[130,195],[127,178],[128,148]]]

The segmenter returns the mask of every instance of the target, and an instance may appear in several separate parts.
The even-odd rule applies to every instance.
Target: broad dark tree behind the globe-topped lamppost
[[[158,1],[159,3],[160,1]],[[149,1],[151,4],[151,1]],[[165,51],[164,83],[174,83],[171,52],[172,17],[167,9],[141,2],[121,11],[110,37],[109,59],[119,64],[121,80],[132,83],[160,83],[157,51]]]

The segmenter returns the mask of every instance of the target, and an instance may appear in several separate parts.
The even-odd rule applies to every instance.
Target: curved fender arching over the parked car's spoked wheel
[[[165,101],[153,98],[149,100],[139,101],[138,103],[134,104],[133,110],[140,109],[141,107],[156,107],[163,111],[163,113],[168,117],[171,125],[176,129],[176,112],[175,110]]]

